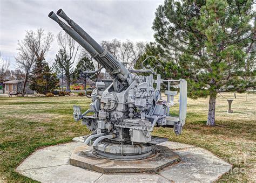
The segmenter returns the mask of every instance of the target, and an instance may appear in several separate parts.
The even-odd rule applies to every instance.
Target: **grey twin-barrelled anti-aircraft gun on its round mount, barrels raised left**
[[[57,11],[57,15],[69,25],[62,22],[55,13],[49,13],[49,17],[101,65],[98,71],[105,68],[113,80],[110,85],[107,83],[109,81],[96,82],[96,88],[91,94],[90,109],[83,114],[79,106],[73,106],[75,121],[82,120],[82,124],[92,131],[85,137],[84,143],[92,145],[98,157],[133,160],[150,156],[156,147],[151,136],[156,125],[171,127],[177,135],[181,133],[186,119],[185,80],[161,80],[160,74],[154,79],[156,67],[145,67],[143,64],[142,69],[134,69],[131,65],[127,69],[125,65],[129,63],[122,63],[114,58],[66,16],[62,9]],[[150,75],[143,76],[138,75],[139,73]],[[167,101],[161,97],[160,85],[163,82],[167,82],[168,86],[165,91]],[[179,117],[169,115],[170,107],[175,104],[174,95],[177,95],[177,91],[170,91],[171,86],[176,86],[180,91]],[[93,115],[87,115],[89,113]]]

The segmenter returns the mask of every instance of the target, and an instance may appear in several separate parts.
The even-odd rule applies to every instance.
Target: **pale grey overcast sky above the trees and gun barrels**
[[[24,38],[26,30],[42,27],[45,32],[50,31],[56,36],[61,28],[48,18],[48,13],[57,12],[60,8],[98,42],[114,38],[152,41],[154,12],[163,2],[164,0],[0,0],[1,57],[11,61],[11,69],[15,68],[17,41]],[[57,52],[55,40],[46,59],[53,61]]]

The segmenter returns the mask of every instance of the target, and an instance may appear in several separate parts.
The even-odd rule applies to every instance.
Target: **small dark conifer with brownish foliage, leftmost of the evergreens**
[[[59,79],[45,60],[37,60],[32,71],[31,89],[37,93],[50,93],[58,87]]]

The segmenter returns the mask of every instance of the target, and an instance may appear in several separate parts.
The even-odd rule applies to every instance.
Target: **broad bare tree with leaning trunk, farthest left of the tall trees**
[[[24,85],[22,96],[24,96],[26,83],[30,79],[32,66],[36,60],[43,60],[45,54],[50,50],[50,45],[53,41],[53,34],[48,32],[44,34],[41,28],[36,32],[26,31],[25,38],[18,41],[18,54],[15,57],[18,68],[24,71]]]

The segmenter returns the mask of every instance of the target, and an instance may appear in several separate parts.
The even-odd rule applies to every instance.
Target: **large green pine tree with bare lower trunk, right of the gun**
[[[146,54],[158,53],[165,67],[159,72],[166,78],[186,79],[188,96],[210,96],[207,125],[215,125],[217,93],[253,86],[252,6],[251,0],[166,0],[156,11],[157,45],[147,46]]]

